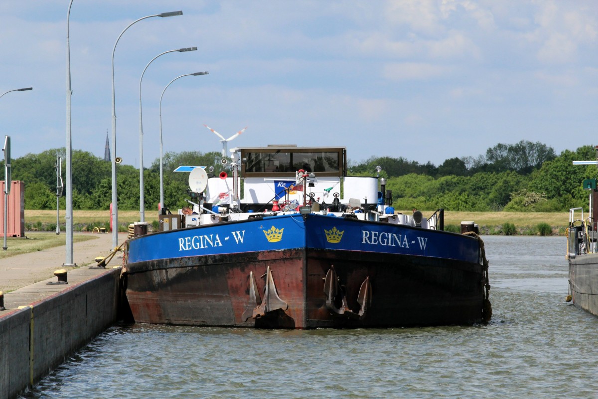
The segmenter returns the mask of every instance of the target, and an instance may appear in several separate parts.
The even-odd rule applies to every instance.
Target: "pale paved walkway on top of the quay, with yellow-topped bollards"
[[[6,299],[14,297],[11,294],[17,294],[17,291],[23,292],[23,290],[19,290],[20,288],[38,283],[36,284],[38,288],[35,288],[35,291],[47,291],[45,288],[51,288],[49,294],[52,294],[103,272],[103,269],[89,269],[89,266],[96,264],[94,258],[98,256],[107,257],[112,252],[112,234],[73,234],[93,236],[93,239],[73,244],[73,261],[77,267],[64,267],[66,261],[65,246],[56,246],[44,251],[30,252],[29,254],[16,255],[0,260],[0,291],[4,291],[5,294],[5,307],[9,307]],[[118,234],[119,245],[126,239],[127,233]],[[122,253],[119,252],[108,263],[107,269],[111,269],[113,266],[122,266],[122,263]],[[57,281],[54,270],[58,269],[68,271],[69,285],[47,285],[47,281]],[[13,292],[7,294],[7,291]],[[25,291],[30,291],[30,289]]]

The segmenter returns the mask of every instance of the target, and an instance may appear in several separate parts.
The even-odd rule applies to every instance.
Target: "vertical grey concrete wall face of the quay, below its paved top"
[[[0,398],[39,382],[117,321],[120,269],[0,317]]]

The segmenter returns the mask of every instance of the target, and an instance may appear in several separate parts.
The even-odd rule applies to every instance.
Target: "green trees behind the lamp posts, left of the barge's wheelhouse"
[[[13,181],[25,182],[25,209],[56,209],[56,158],[62,157],[65,170],[65,148],[26,154],[11,162]],[[188,173],[173,172],[181,165],[214,166],[220,171],[221,156],[217,152],[183,151],[163,156],[164,204],[178,209],[187,205]],[[4,162],[2,162],[4,164]],[[3,165],[4,166],[4,165]],[[105,210],[112,202],[112,163],[93,154],[73,150],[71,156],[73,209]],[[64,180],[64,173],[63,173]],[[139,169],[117,165],[118,209],[139,209]],[[59,197],[65,208],[65,195]],[[157,211],[160,202],[160,160],[144,168],[145,209]]]

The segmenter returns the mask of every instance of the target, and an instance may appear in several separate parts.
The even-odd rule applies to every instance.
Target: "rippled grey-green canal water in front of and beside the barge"
[[[565,303],[565,237],[484,236],[488,325],[116,326],[23,398],[591,398],[598,318]]]

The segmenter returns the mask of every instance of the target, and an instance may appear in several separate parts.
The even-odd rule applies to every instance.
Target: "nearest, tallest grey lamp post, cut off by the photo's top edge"
[[[71,19],[71,5],[73,0],[69,2],[69,9],[66,11],[66,198],[65,198],[65,230],[66,230],[66,257],[65,266],[75,266],[73,260],[73,185],[72,185],[72,142],[71,142],[71,43],[69,39],[70,34],[70,19]],[[56,231],[60,232],[58,223],[56,223]]]

